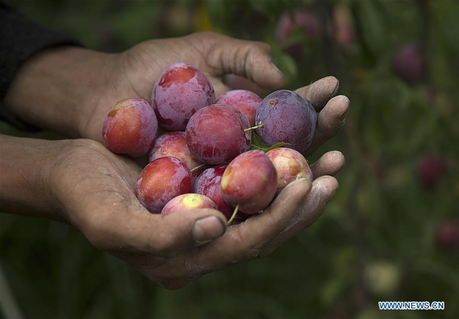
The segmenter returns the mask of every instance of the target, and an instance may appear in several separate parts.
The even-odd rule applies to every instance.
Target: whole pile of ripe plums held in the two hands
[[[316,120],[311,103],[289,90],[263,100],[233,90],[216,100],[200,70],[175,63],[155,83],[151,105],[116,103],[103,139],[114,153],[150,152],[135,189],[149,212],[215,208],[237,223],[265,209],[290,182],[312,180],[301,152],[311,144]],[[157,137],[158,125],[172,132]]]

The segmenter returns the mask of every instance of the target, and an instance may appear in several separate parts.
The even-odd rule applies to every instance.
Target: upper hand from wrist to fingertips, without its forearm
[[[85,120],[87,126],[82,133],[85,137],[101,140],[101,125],[116,101],[126,96],[150,101],[156,79],[166,67],[176,62],[191,64],[206,73],[217,97],[229,90],[222,82],[225,73],[244,76],[268,89],[279,89],[284,84],[282,73],[271,63],[269,45],[211,32],[145,41],[116,56],[115,60],[112,71],[109,71],[113,85],[99,93],[100,98],[89,120]],[[335,136],[344,125],[349,100],[342,95],[334,97],[338,87],[336,78],[326,77],[296,90],[310,100],[319,113],[316,134],[306,155]]]

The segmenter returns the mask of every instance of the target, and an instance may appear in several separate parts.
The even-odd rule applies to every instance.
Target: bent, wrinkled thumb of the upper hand
[[[217,75],[234,73],[268,89],[278,89],[284,85],[282,72],[271,62],[271,48],[267,43],[239,40],[216,33],[199,36],[205,39],[210,37],[215,43],[206,58]]]

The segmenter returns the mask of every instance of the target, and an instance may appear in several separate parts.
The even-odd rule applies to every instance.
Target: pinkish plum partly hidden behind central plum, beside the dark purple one
[[[262,99],[257,94],[246,90],[232,90],[223,93],[216,104],[227,104],[237,108],[249,120],[250,126],[255,126],[255,115]]]

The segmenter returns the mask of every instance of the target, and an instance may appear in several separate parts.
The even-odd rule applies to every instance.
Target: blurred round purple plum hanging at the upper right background
[[[406,83],[418,83],[425,77],[425,57],[414,44],[404,44],[398,48],[394,54],[393,66],[396,75]]]

